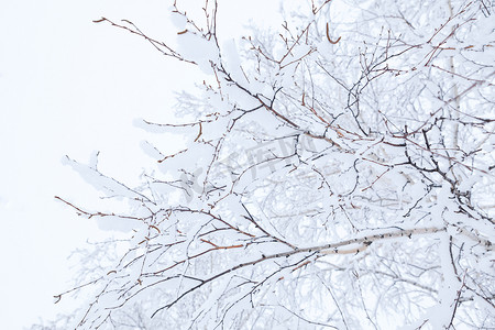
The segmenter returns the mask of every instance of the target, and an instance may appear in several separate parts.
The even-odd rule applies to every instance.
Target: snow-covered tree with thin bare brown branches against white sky
[[[217,1],[204,23],[174,3],[177,50],[95,21],[205,80],[180,122],[140,124],[187,140],[147,144],[141,186],[67,158],[129,206],[57,198],[133,227],[68,290],[95,293],[77,328],[495,327],[493,4],[293,2],[279,31],[223,43]]]

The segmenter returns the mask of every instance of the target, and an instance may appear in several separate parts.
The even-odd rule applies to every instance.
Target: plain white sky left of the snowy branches
[[[170,2],[0,2],[2,329],[22,329],[69,308],[64,299],[53,304],[54,295],[69,288],[67,256],[87,238],[109,235],[54,199],[94,207],[98,196],[62,157],[87,162],[99,150],[100,169],[135,184],[148,160],[139,146],[146,134],[132,121],[165,121],[175,102],[170,91],[191,86],[183,65],[136,36],[91,21],[129,19],[170,40]],[[249,19],[260,23],[264,14],[267,22],[278,0],[220,3],[224,32],[233,35]]]

